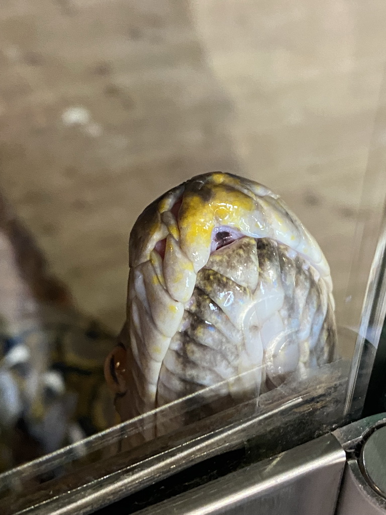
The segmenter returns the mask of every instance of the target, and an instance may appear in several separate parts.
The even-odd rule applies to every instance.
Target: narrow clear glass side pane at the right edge
[[[357,338],[348,378],[345,414],[355,418],[363,409],[367,387],[373,370],[382,326],[386,314],[385,282],[385,191],[386,149],[384,124],[386,122],[386,82],[383,78],[378,112],[369,149],[369,161],[364,174],[356,246],[348,291],[353,303],[346,310],[346,320],[355,328]],[[372,205],[372,209],[369,206]],[[367,209],[366,209],[367,207]],[[364,289],[366,281],[366,288]],[[361,313],[359,315],[359,309]]]

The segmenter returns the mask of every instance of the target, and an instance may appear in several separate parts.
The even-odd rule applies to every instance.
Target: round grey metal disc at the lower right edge
[[[375,431],[364,444],[361,464],[371,486],[386,498],[386,426]]]

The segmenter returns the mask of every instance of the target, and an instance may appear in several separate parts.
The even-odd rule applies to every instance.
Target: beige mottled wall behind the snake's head
[[[145,205],[204,171],[250,176],[317,237],[346,321],[385,26],[364,0],[3,0],[0,187],[117,330]]]

